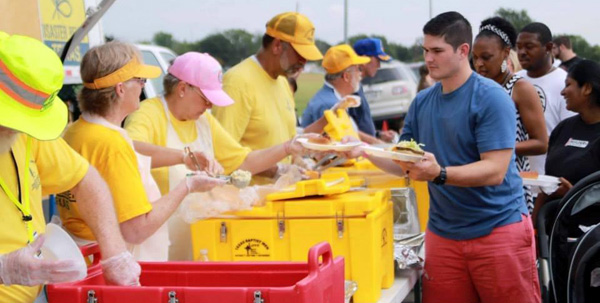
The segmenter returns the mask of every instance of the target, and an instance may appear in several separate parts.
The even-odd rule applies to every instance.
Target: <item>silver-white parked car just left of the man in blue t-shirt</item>
[[[362,80],[374,121],[402,119],[417,94],[417,80],[399,61],[382,62],[375,77]]]

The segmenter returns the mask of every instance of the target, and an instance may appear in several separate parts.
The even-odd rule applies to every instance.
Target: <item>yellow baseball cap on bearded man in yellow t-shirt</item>
[[[289,42],[292,47],[309,61],[323,59],[315,45],[315,26],[300,13],[281,13],[267,22],[267,35]]]

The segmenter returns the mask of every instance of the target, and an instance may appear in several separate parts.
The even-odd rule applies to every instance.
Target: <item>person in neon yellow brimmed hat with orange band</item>
[[[126,250],[106,183],[59,138],[68,117],[58,97],[63,78],[50,48],[0,32],[0,302],[33,302],[42,284],[78,278],[74,261],[37,257],[42,196],[66,190],[100,243],[105,280],[139,285],[140,266]]]

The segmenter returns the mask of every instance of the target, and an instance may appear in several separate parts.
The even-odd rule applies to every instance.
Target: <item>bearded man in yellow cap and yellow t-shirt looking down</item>
[[[307,60],[323,58],[315,46],[315,28],[306,16],[282,13],[266,27],[256,55],[223,77],[223,89],[235,103],[212,109],[233,139],[252,150],[284,143],[296,135],[294,98],[286,77],[302,69]]]

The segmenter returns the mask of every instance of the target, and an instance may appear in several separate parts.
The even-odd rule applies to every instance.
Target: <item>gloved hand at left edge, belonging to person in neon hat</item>
[[[47,283],[72,282],[79,277],[72,260],[50,261],[35,255],[44,244],[44,235],[32,244],[0,256],[0,279],[2,284],[34,286]]]

